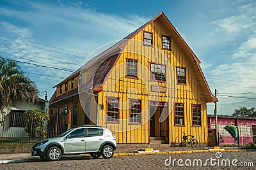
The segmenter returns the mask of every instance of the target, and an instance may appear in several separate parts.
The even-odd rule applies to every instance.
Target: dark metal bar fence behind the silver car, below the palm
[[[24,121],[25,111],[12,110],[10,113],[0,113],[3,124],[0,126],[0,153],[10,153],[10,148],[31,148],[36,142],[59,136],[70,129],[71,113],[51,114],[49,122],[40,127],[33,127],[34,118],[31,116],[29,124]],[[44,129],[45,133],[37,129]],[[13,149],[14,150],[14,149]]]

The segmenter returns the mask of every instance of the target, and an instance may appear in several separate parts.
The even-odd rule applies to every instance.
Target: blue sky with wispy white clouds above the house
[[[74,71],[99,46],[122,39],[163,11],[218,90],[218,114],[255,107],[256,2],[0,1],[0,55]],[[20,63],[40,92],[70,72]],[[213,113],[214,104],[207,104]]]

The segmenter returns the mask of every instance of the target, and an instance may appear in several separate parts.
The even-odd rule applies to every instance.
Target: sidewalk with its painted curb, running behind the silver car
[[[244,152],[254,150],[237,150],[236,148],[225,148],[225,150],[209,150],[209,148],[190,148],[190,147],[166,147],[166,148],[154,148],[159,152],[147,152],[147,153],[135,153],[136,150],[145,148],[120,148],[115,151],[115,156],[126,156],[126,155],[146,155],[146,154],[175,154],[175,153],[199,153],[199,152]],[[90,157],[90,154],[81,155],[63,155],[61,159],[84,159]],[[14,163],[14,162],[35,162],[41,161],[40,157],[32,157],[30,153],[10,153],[0,155],[0,164],[3,163]]]

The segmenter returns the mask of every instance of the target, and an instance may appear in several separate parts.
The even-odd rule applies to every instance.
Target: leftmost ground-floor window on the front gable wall
[[[107,98],[107,122],[118,122],[119,118],[119,100],[116,97]]]

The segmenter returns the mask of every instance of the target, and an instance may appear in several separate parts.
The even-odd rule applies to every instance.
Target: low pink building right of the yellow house
[[[215,116],[207,115],[208,129],[215,129]],[[218,115],[218,132],[221,144],[234,144],[235,139],[224,129],[226,125],[239,125],[240,145],[256,143],[256,117]]]

